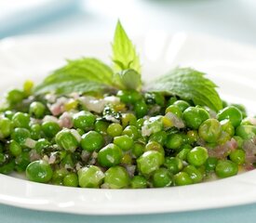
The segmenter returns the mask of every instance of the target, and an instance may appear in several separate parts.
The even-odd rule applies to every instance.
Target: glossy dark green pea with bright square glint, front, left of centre
[[[111,167],[121,163],[122,150],[113,143],[108,144],[98,153],[98,162],[101,166]]]

